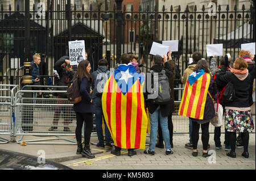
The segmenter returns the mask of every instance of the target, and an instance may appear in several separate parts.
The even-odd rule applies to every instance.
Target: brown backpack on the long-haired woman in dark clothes
[[[81,102],[82,96],[80,93],[79,82],[77,77],[73,78],[72,81],[69,83],[66,95],[71,104]]]

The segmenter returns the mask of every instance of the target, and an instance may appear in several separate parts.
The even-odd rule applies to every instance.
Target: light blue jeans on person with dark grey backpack
[[[168,129],[168,116],[163,117],[160,106],[156,108],[154,113],[149,113],[150,116],[150,150],[155,151],[155,142],[156,142],[156,136],[158,133],[158,119],[160,121],[160,125],[162,128],[162,134],[163,134],[163,140],[164,140],[164,145],[166,145],[166,150],[171,150],[171,145],[170,145],[170,133]]]

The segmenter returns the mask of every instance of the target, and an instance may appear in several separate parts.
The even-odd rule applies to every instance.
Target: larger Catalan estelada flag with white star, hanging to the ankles
[[[104,87],[102,110],[114,144],[120,148],[145,148],[144,80],[132,64],[121,64]]]

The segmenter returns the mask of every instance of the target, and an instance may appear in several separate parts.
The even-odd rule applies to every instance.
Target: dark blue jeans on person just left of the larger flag
[[[105,124],[105,138],[106,142],[110,143],[110,132],[109,128],[106,125],[106,121],[102,112],[102,103],[101,103],[101,97],[93,98],[93,102],[96,106],[95,111],[95,121],[96,121],[96,132],[98,136],[98,141],[100,144],[104,144],[104,137],[103,137],[103,130],[102,130],[102,117],[104,119]]]

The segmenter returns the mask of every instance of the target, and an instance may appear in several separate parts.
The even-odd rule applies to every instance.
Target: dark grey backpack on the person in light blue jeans
[[[154,73],[154,71],[150,70],[150,73]],[[158,87],[154,87],[153,92],[151,93],[156,92],[155,89],[158,89],[158,96],[153,99],[153,103],[159,105],[167,104],[171,100],[171,89],[165,70],[160,71],[158,76],[154,76],[154,82],[156,81],[158,81]]]

